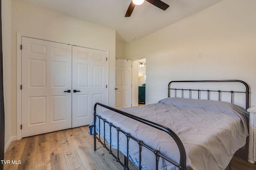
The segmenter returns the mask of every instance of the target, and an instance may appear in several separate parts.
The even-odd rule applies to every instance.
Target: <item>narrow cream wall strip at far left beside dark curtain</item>
[[[12,1],[2,0],[2,45],[3,45],[3,78],[4,78],[4,113],[5,113],[5,149],[12,141],[12,89],[11,82],[11,30]]]

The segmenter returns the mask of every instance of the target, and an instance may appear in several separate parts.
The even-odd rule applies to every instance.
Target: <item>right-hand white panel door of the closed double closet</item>
[[[72,127],[79,127],[92,122],[96,102],[107,104],[107,52],[72,46],[72,58]]]

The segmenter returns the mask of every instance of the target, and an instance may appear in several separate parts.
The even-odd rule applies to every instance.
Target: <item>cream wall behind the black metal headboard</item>
[[[129,59],[146,56],[147,104],[167,97],[172,80],[239,79],[256,105],[255,7],[255,0],[223,0],[127,45]]]

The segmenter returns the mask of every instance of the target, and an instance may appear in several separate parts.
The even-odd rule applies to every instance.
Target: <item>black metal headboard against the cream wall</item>
[[[236,82],[236,83],[241,83],[245,86],[245,90],[243,91],[236,91],[236,90],[218,90],[218,89],[214,89],[214,90],[210,90],[210,89],[206,89],[206,90],[200,90],[200,89],[183,89],[183,88],[171,88],[172,84],[174,83],[197,83],[197,82],[223,82],[223,83],[232,83],[232,82]],[[214,88],[218,88],[218,87],[214,87]],[[180,91],[181,92],[181,98],[184,98],[184,92],[188,91],[189,92],[189,98],[192,98],[192,92],[197,91],[197,98],[200,99],[201,97],[201,92],[207,92],[208,94],[208,100],[210,100],[210,92],[217,92],[218,93],[218,100],[221,101],[221,96],[222,93],[230,93],[231,96],[231,103],[234,104],[234,94],[235,93],[244,93],[245,94],[245,106],[246,109],[249,108],[249,86],[246,82],[242,81],[242,80],[186,80],[186,81],[171,81],[168,84],[168,97],[171,97],[171,90],[174,90],[175,96],[177,97],[177,92]]]

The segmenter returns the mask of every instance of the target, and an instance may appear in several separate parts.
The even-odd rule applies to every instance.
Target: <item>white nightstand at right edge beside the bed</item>
[[[256,162],[256,106],[250,107],[247,111],[250,112],[248,162],[254,164]]]

